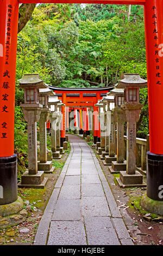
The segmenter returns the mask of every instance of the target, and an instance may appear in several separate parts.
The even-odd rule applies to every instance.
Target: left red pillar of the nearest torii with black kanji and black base
[[[14,102],[18,1],[0,0],[0,205],[17,200]]]

